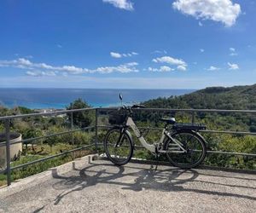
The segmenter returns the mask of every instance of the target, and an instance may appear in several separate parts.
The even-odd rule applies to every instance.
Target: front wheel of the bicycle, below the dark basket
[[[133,154],[133,145],[130,135],[127,131],[119,128],[108,130],[104,140],[105,152],[116,165],[127,164]]]

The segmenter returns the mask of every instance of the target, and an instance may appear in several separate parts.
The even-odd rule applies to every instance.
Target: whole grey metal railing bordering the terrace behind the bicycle
[[[98,147],[102,146],[102,141],[98,140],[98,129],[108,129],[111,128],[109,125],[99,125],[98,124],[98,118],[100,115],[100,112],[108,112],[108,111],[113,111],[116,110],[118,107],[96,107],[96,108],[83,108],[83,109],[72,109],[72,110],[61,110],[61,111],[55,111],[55,112],[41,112],[41,113],[31,113],[31,114],[22,114],[22,115],[13,115],[13,116],[5,116],[5,117],[0,117],[0,122],[4,123],[4,128],[5,128],[5,141],[0,143],[0,147],[6,147],[6,169],[0,171],[0,174],[5,173],[7,175],[7,183],[8,186],[11,184],[11,171],[12,170],[17,170],[20,168],[24,168],[28,165],[31,164],[36,164],[39,162],[44,162],[45,160],[49,160],[50,158],[57,158],[62,155],[66,155],[67,153],[74,153],[82,149],[86,149],[89,147],[95,147],[96,152],[98,151]],[[191,123],[195,122],[195,115],[196,113],[199,112],[218,112],[218,113],[249,113],[249,114],[254,114],[256,116],[256,110],[216,110],[216,109],[168,109],[168,108],[143,108],[143,109],[134,109],[136,112],[187,112],[191,116]],[[95,111],[95,124],[86,127],[86,128],[81,128],[81,129],[74,129],[73,125],[73,113],[75,112],[85,112],[85,111]],[[29,138],[21,141],[15,141],[15,142],[10,142],[10,122],[12,120],[18,119],[18,118],[29,118],[29,117],[46,117],[46,116],[55,116],[55,115],[61,115],[61,114],[68,114],[71,113],[71,130],[67,130],[64,132],[59,132],[59,133],[54,133],[50,135],[44,135],[44,136],[39,136],[39,137],[34,137],[34,138]],[[139,127],[139,129],[146,129],[145,127]],[[161,128],[147,128],[149,130],[162,130]],[[81,130],[95,130],[95,141],[91,143],[90,145],[86,145],[84,147],[78,147],[74,148],[72,150],[68,150],[63,153],[58,153],[46,158],[41,158],[38,160],[34,160],[32,162],[26,163],[26,164],[20,164],[14,167],[11,167],[11,158],[10,158],[10,145],[13,145],[15,143],[28,143],[28,142],[33,142],[37,141],[40,139],[44,138],[49,138],[52,136],[57,136],[57,135],[65,135],[65,134],[70,134],[74,133],[76,131],[81,131]],[[248,131],[230,131],[230,130],[201,130],[201,132],[204,133],[214,133],[214,134],[232,134],[232,135],[256,135],[255,132],[248,132]],[[74,145],[74,138],[72,137],[72,144]],[[142,146],[137,146],[137,147],[142,147]],[[241,155],[241,156],[248,156],[248,157],[256,157],[256,153],[231,153],[231,152],[221,152],[221,151],[207,151],[207,153],[221,153],[221,154],[231,154],[231,155]]]

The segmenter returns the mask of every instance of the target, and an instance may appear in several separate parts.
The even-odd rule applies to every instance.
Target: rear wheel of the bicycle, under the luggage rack
[[[177,146],[177,143],[167,139],[165,149],[168,151],[166,157],[174,166],[182,169],[190,169],[201,164],[206,158],[207,147],[203,138],[194,131],[180,130],[172,134],[172,138],[179,143],[183,150]]]

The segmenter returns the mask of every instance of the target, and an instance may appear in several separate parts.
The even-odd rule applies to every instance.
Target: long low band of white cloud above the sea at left
[[[45,63],[32,63],[30,60],[20,58],[18,60],[0,60],[0,66],[15,67],[19,69],[29,70],[26,72],[30,76],[55,76],[58,72],[69,74],[84,74],[84,73],[110,73],[110,72],[138,72],[137,62],[121,64],[119,66],[100,66],[96,69],[88,69],[77,66],[51,66]],[[39,69],[39,71],[38,71]]]

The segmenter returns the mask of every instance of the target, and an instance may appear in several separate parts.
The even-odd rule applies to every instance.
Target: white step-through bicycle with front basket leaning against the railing
[[[206,130],[204,124],[183,124],[176,123],[175,118],[160,118],[166,123],[160,141],[148,144],[131,118],[133,109],[143,107],[124,105],[119,108],[119,114],[113,114],[109,118],[114,126],[108,130],[103,143],[107,157],[113,164],[124,165],[131,160],[135,144],[128,128],[131,128],[143,147],[150,153],[156,157],[166,154],[167,159],[174,166],[190,169],[201,164],[206,158],[207,147],[205,139],[198,131]]]

